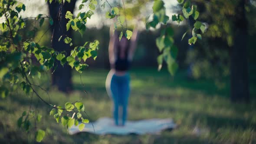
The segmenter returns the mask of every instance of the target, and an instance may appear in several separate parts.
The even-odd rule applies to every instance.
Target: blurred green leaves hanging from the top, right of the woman
[[[182,14],[174,14],[171,16],[171,20],[180,24],[184,19],[188,19],[189,16],[193,16],[194,20],[197,20],[199,16],[199,12],[197,11],[196,5],[191,5],[190,0],[177,0],[177,2],[182,7]],[[154,0],[153,4],[153,20],[146,23],[146,29],[150,27],[156,28],[158,24],[167,25],[167,21],[169,20],[169,16],[165,14],[164,2],[162,0]],[[167,63],[167,69],[174,75],[177,71],[178,65],[175,62],[177,56],[177,47],[174,45],[173,39],[173,29],[170,26],[162,26],[164,28],[161,29],[161,35],[156,39],[156,45],[162,54],[158,56],[158,70],[162,68],[162,63],[165,61]],[[188,40],[188,43],[191,45],[195,44],[197,39],[202,39],[202,36],[196,33],[197,29],[201,29],[202,33],[204,33],[206,26],[200,21],[196,21],[193,29],[193,37]],[[187,32],[184,33],[182,39],[186,36]],[[181,39],[181,40],[182,40]]]

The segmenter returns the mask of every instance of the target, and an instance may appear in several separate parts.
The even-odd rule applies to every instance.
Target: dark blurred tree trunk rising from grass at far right
[[[231,47],[231,100],[249,102],[246,0],[240,0],[234,17],[234,45]]]

